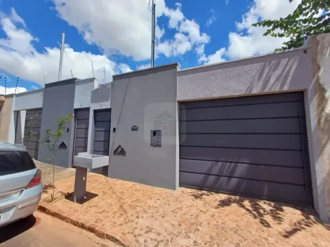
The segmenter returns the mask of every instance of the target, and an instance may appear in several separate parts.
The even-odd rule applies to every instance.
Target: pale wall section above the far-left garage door
[[[44,100],[44,88],[29,91],[25,93],[18,93],[15,100],[15,111],[25,109],[41,108]]]

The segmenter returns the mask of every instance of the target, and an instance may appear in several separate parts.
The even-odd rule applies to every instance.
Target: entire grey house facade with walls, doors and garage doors
[[[28,149],[43,161],[50,153],[37,138],[74,114],[58,166],[71,167],[80,152],[107,155],[95,172],[111,178],[313,207],[329,222],[329,51],[330,34],[321,34],[292,51],[192,69],[173,63],[101,86],[46,84],[6,96],[0,137],[20,143],[37,113]]]

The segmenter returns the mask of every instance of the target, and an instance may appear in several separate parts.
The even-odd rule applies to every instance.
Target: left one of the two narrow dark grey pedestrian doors
[[[74,133],[74,155],[87,152],[89,108],[76,109],[76,131]]]

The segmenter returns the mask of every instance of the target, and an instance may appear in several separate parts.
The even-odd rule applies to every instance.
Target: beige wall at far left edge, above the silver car
[[[0,112],[0,142],[8,142],[8,135],[13,112],[13,95],[6,96]]]

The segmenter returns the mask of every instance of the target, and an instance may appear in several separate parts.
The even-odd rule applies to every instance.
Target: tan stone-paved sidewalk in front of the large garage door
[[[72,202],[74,178],[56,188],[66,198],[42,205],[128,246],[330,246],[330,227],[314,211],[283,203],[171,191],[93,173],[84,203]]]

